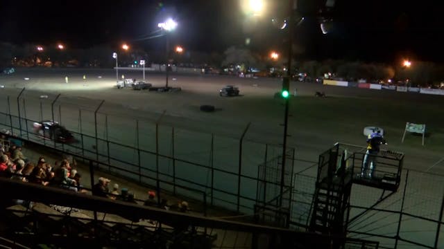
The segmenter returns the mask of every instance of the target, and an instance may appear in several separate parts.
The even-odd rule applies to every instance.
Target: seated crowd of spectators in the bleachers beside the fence
[[[21,146],[12,143],[8,151],[0,147],[0,177],[44,186],[62,187],[74,192],[88,192],[80,183],[80,174],[73,167],[76,167],[76,162],[73,158],[64,158],[51,165],[44,156],[40,156],[37,162],[34,163],[23,154]],[[171,204],[167,199],[162,199],[159,202],[156,198],[156,192],[151,190],[148,191],[148,199],[146,201],[137,200],[135,193],[128,191],[127,188],[121,188],[119,191],[117,183],[113,185],[112,191],[110,191],[109,183],[110,179],[99,177],[97,183],[92,186],[92,194],[128,203],[143,203],[146,206],[176,212],[189,211],[187,201],[178,201]],[[16,200],[15,203],[23,204],[24,201]]]

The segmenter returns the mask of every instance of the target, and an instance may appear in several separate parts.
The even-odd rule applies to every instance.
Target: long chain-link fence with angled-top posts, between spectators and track
[[[257,167],[282,154],[278,143],[255,140],[255,134],[264,132],[255,124],[228,129],[104,100],[1,91],[1,128],[13,135],[112,165],[105,170],[159,190],[192,195],[176,188],[180,185],[206,192],[210,203],[230,210],[253,213]],[[78,142],[61,144],[37,136],[33,124],[42,120],[62,124]]]

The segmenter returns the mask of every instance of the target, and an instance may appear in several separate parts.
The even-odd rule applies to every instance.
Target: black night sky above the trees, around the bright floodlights
[[[354,59],[393,62],[400,57],[444,62],[443,1],[336,0],[335,26],[323,35],[316,13],[322,0],[299,0],[305,21],[295,29],[302,59]],[[287,0],[273,0],[262,18],[248,19],[239,0],[176,1],[0,1],[0,41],[71,48],[128,42],[146,50],[162,43],[157,23],[179,23],[174,42],[188,50],[223,52],[248,45],[255,51],[284,47],[285,35],[273,27]],[[284,50],[282,50],[284,53]]]

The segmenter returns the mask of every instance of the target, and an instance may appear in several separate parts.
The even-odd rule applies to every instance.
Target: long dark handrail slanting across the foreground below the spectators
[[[21,183],[7,178],[0,178],[0,188],[6,191],[2,199],[23,199],[29,201],[52,203],[56,205],[79,208],[83,210],[94,210],[110,214],[137,214],[140,219],[152,219],[161,223],[184,222],[198,227],[219,228],[223,230],[235,230],[243,232],[278,232],[282,235],[305,237],[306,239],[328,239],[319,234],[297,232],[294,230],[275,228],[267,225],[256,225],[239,221],[228,221],[211,217],[198,216],[196,214],[171,212],[160,208],[151,208],[144,205],[113,201],[99,196],[89,196],[78,194],[69,190],[62,190],[55,187],[46,187],[31,183]]]

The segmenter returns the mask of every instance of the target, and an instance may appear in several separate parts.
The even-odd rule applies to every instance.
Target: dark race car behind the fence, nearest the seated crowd
[[[53,122],[51,120],[34,122],[33,129],[37,136],[44,139],[62,143],[76,142],[76,139],[71,132],[58,124],[58,122]]]

